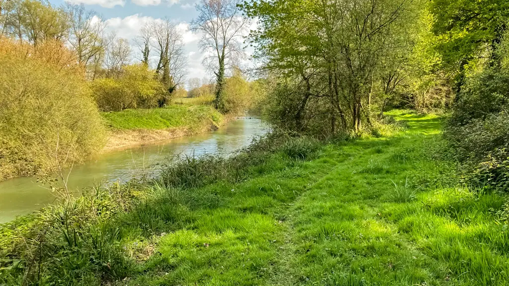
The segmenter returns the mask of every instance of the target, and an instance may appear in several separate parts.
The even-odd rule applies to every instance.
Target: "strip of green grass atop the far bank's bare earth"
[[[222,115],[207,105],[170,105],[154,109],[126,109],[103,112],[106,125],[112,129],[202,128],[204,124],[220,124]]]

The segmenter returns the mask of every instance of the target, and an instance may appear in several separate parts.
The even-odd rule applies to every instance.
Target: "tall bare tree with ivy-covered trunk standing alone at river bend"
[[[201,33],[200,48],[210,54],[204,64],[217,77],[215,107],[224,111],[225,69],[243,55],[242,34],[248,19],[240,15],[239,0],[202,0],[196,4],[200,15],[191,22],[191,31]]]

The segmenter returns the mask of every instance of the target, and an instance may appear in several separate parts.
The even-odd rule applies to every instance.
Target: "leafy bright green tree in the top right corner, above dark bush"
[[[431,31],[442,57],[442,68],[456,75],[456,93],[465,81],[466,66],[474,60],[489,58],[499,64],[496,49],[507,30],[509,2],[506,0],[433,0]],[[488,55],[488,56],[486,56]]]

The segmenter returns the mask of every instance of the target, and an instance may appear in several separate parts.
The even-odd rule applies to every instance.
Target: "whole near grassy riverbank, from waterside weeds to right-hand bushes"
[[[69,223],[45,224],[60,228],[44,243],[60,244],[43,248],[42,267],[37,255],[30,263],[47,283],[89,285],[509,284],[505,198],[457,185],[439,118],[391,114],[408,130],[272,138],[229,161],[189,158],[157,184],[114,186],[104,191],[112,201],[98,192]],[[33,224],[15,224],[0,249],[44,245],[26,239]],[[15,248],[6,237],[24,239]],[[1,282],[37,277],[3,255]]]

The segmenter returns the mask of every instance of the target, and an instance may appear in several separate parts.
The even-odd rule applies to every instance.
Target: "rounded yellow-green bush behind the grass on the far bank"
[[[155,73],[143,64],[124,67],[118,78],[96,79],[91,88],[102,111],[158,107],[170,99]]]

